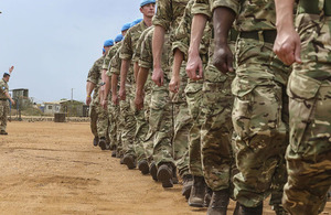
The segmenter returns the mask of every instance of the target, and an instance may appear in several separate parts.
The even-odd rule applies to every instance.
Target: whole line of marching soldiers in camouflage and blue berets
[[[226,214],[229,198],[234,214],[259,215],[269,195],[278,215],[322,212],[331,2],[158,0],[154,9],[141,1],[143,19],[106,41],[89,72],[94,144],[163,187],[179,174],[189,205],[209,215]]]

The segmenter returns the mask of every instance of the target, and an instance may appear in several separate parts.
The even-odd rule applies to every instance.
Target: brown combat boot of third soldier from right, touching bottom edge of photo
[[[207,209],[207,215],[226,215],[228,202],[229,202],[228,189],[214,191],[211,200],[211,204]]]

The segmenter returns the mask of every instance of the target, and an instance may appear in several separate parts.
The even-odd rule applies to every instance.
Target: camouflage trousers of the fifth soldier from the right
[[[153,137],[153,160],[159,166],[162,163],[172,163],[172,105],[169,97],[169,85],[164,79],[164,85],[153,86],[150,104],[150,131],[147,140]]]

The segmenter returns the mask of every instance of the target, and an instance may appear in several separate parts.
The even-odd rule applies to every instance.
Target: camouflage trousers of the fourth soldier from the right
[[[177,94],[170,94],[173,105],[173,159],[181,178],[190,174],[189,171],[189,136],[192,118],[189,112],[184,89],[188,84],[185,66],[181,67],[181,85]]]

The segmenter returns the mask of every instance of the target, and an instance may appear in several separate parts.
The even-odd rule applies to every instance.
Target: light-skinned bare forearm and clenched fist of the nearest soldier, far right
[[[274,52],[287,65],[301,63],[300,36],[293,25],[295,0],[275,0],[277,37],[274,43]]]

